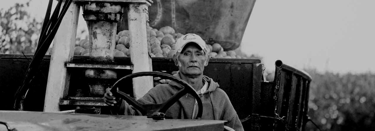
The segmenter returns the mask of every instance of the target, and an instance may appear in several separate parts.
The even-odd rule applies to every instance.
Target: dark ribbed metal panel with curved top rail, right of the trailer
[[[305,130],[308,109],[308,90],[311,77],[304,71],[275,62],[275,121],[277,130]],[[275,96],[276,96],[275,95]],[[277,115],[276,115],[277,114]],[[298,122],[298,123],[297,123]]]

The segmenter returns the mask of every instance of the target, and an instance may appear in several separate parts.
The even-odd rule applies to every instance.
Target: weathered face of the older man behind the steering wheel
[[[207,59],[203,50],[196,47],[196,44],[189,44],[184,47],[178,57],[178,70],[186,75],[202,75]]]

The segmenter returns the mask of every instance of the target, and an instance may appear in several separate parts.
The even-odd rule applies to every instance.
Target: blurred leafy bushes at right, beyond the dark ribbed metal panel
[[[307,72],[312,77],[308,115],[321,130],[375,130],[375,74]],[[317,128],[308,122],[306,130]]]

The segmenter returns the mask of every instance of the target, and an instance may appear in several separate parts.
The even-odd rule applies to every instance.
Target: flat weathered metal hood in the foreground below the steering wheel
[[[66,114],[48,112],[0,111],[0,121],[18,131],[220,131],[225,121],[165,119],[146,116]]]

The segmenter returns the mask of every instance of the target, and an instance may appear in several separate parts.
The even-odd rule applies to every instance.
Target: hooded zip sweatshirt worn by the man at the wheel
[[[173,76],[181,78],[179,72]],[[203,79],[208,83],[208,89],[199,95],[203,104],[201,119],[227,121],[224,125],[236,131],[243,131],[240,119],[228,95],[222,89],[217,88],[219,84],[214,82],[213,79],[207,76],[203,76]],[[158,84],[137,101],[142,104],[163,103],[182,88],[180,84],[174,81],[170,81],[168,84]],[[138,110],[128,105],[124,100],[121,102],[119,112],[124,115],[141,115]],[[182,96],[165,112],[166,116],[171,116],[173,119],[195,119],[197,114],[198,103],[190,94]]]

